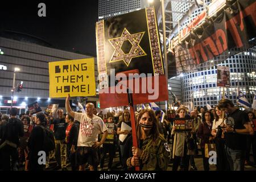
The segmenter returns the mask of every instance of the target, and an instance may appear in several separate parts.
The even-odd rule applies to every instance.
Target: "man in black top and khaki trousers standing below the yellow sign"
[[[55,170],[62,168],[63,171],[67,170],[67,144],[65,143],[66,138],[66,124],[65,117],[62,109],[57,110],[58,118],[53,120],[54,124],[54,137],[55,137],[55,158],[57,160],[57,166]]]

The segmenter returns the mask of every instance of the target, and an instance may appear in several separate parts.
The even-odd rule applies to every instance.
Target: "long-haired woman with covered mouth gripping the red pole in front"
[[[132,155],[126,161],[127,167],[139,166],[142,171],[166,171],[170,148],[166,139],[159,133],[154,111],[142,109],[138,118],[136,125],[138,147],[130,148]],[[129,137],[127,144],[132,145],[132,137]]]

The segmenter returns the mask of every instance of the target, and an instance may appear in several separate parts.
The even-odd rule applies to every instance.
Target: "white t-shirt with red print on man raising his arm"
[[[75,113],[75,120],[80,121],[77,146],[92,147],[98,141],[98,134],[108,130],[102,119],[94,114],[91,119],[85,113]]]

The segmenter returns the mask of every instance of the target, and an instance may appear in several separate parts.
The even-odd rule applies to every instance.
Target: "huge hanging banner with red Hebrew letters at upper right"
[[[256,45],[256,2],[234,1],[175,44],[177,74],[213,67]],[[208,61],[211,60],[211,61]]]

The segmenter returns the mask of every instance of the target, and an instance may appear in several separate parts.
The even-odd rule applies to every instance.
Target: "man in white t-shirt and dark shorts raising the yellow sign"
[[[100,117],[93,114],[94,105],[88,103],[85,106],[85,113],[72,111],[69,105],[69,94],[66,98],[66,110],[75,120],[80,121],[79,137],[77,141],[77,156],[79,161],[79,171],[84,171],[85,164],[88,162],[90,171],[97,171],[98,154],[100,147],[108,135],[108,128]],[[98,142],[98,134],[103,133],[102,139]]]

